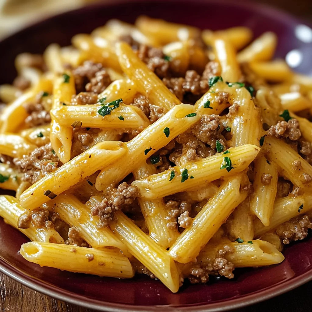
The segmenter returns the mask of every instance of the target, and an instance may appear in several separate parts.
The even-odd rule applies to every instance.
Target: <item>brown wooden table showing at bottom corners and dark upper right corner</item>
[[[283,8],[312,23],[311,0],[257,0]],[[236,312],[312,312],[312,281],[276,298]],[[0,273],[0,311],[2,312],[92,312],[42,295]]]

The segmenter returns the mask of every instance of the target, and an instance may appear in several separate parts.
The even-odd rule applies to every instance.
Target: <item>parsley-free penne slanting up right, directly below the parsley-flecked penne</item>
[[[240,176],[229,178],[220,186],[219,192],[193,219],[192,226],[185,229],[170,248],[169,253],[175,261],[188,263],[196,259],[202,247],[217,232],[235,207],[246,198],[247,193],[240,193],[240,186]]]

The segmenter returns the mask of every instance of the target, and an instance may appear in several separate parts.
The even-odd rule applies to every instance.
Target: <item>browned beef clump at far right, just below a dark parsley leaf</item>
[[[297,119],[290,119],[288,122],[285,120],[279,121],[274,126],[271,126],[267,135],[275,138],[284,137],[292,141],[297,141],[301,137],[299,122]]]

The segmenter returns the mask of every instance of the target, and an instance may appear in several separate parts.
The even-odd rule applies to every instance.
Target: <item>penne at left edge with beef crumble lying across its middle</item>
[[[0,216],[6,223],[10,224],[12,227],[15,227],[17,230],[29,237],[32,241],[64,244],[63,238],[52,227],[35,227],[31,222],[29,228],[19,228],[17,226],[18,219],[24,213],[27,213],[27,210],[20,205],[20,202],[15,197],[9,195],[0,196]]]

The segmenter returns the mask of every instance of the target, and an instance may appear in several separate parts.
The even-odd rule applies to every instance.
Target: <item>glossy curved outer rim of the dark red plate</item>
[[[179,0],[171,0],[172,2]],[[31,22],[23,27],[22,29],[18,30],[17,32],[10,33],[8,36],[3,37],[0,40],[0,44],[5,44],[7,40],[9,40],[13,36],[18,36],[20,33],[24,32],[26,29],[30,29],[32,27],[37,27],[41,23],[52,20],[55,17],[60,17],[67,14],[75,14],[76,12],[85,10],[87,7],[88,9],[96,8],[96,7],[103,7],[111,4],[122,4],[122,3],[129,3],[129,2],[146,2],[146,0],[104,0],[97,3],[89,4],[87,6],[79,7],[75,10],[68,10],[62,12],[60,14],[53,15],[51,17],[43,18],[37,20],[36,22]],[[158,2],[166,2],[166,0],[159,0]],[[189,3],[187,0],[180,0],[180,2]],[[231,4],[232,6],[236,7],[244,7],[249,8],[251,10],[258,10],[267,16],[274,16],[276,19],[279,20],[287,20],[288,24],[292,25],[307,25],[311,26],[311,23],[305,21],[304,19],[300,19],[295,17],[294,15],[286,12],[283,9],[272,7],[271,5],[263,4],[263,3],[255,3],[249,2],[247,0],[241,0],[240,2],[232,2],[230,0],[195,0],[194,2],[211,2],[217,4]],[[219,311],[228,311],[237,308],[242,308],[245,306],[253,305],[259,303],[261,301],[268,300],[270,298],[276,297],[281,295],[287,291],[293,290],[300,285],[303,285],[310,280],[312,280],[312,269],[309,271],[296,276],[290,280],[281,281],[272,287],[266,287],[263,290],[259,290],[247,295],[243,295],[240,298],[234,299],[227,299],[227,300],[220,300],[215,303],[209,304],[191,304],[191,305],[130,305],[130,304],[120,304],[116,302],[102,302],[96,299],[92,299],[86,297],[84,295],[77,295],[74,292],[66,291],[60,288],[54,288],[53,285],[43,282],[37,279],[34,276],[28,275],[25,272],[22,272],[18,267],[12,265],[2,257],[0,257],[0,272],[7,275],[8,277],[12,278],[13,280],[21,283],[24,286],[31,288],[32,290],[38,291],[44,295],[49,297],[53,297],[57,300],[65,301],[73,305],[79,305],[81,307],[85,307],[88,309],[94,309],[97,311],[107,311],[107,312],[150,312],[150,311],[162,311],[164,307],[168,311],[174,312],[185,312],[185,311],[193,311],[193,312],[219,312]],[[55,290],[56,289],[56,290]]]

